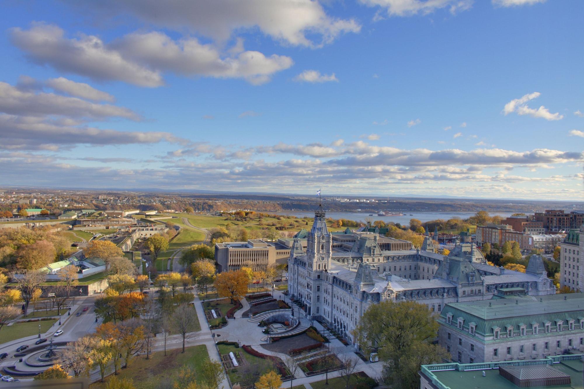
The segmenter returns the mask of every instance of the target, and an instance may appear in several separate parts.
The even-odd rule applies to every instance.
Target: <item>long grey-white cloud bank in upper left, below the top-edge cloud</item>
[[[222,57],[211,44],[196,38],[173,40],[160,32],[130,33],[110,44],[96,36],[68,39],[60,27],[33,24],[29,30],[11,30],[13,43],[34,62],[61,71],[138,86],[161,86],[162,72],[183,76],[243,78],[263,84],[276,72],[293,65],[285,55],[240,51]],[[238,43],[238,47],[241,44]]]

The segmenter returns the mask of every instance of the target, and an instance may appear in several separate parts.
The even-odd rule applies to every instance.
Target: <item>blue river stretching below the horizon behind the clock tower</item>
[[[281,215],[294,215],[298,217],[314,217],[314,211],[281,211],[281,212],[270,212],[274,214],[281,214]],[[373,216],[370,216],[373,214]],[[326,217],[332,217],[333,219],[347,219],[347,220],[356,220],[356,221],[365,221],[365,218],[371,218],[373,221],[375,220],[383,220],[386,223],[388,221],[392,221],[394,223],[399,224],[409,224],[410,219],[418,219],[422,222],[436,220],[436,219],[444,219],[448,220],[453,217],[460,217],[461,219],[465,219],[471,216],[474,216],[474,212],[407,212],[404,213],[403,216],[377,216],[377,212],[327,212]],[[502,218],[507,216],[511,216],[512,212],[492,212],[489,213],[491,216],[498,215]]]

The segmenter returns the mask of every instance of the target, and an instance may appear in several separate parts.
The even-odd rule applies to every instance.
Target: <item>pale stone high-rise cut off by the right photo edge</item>
[[[584,225],[580,230],[569,230],[568,235],[559,244],[559,286],[568,286],[571,290],[581,290],[584,285],[584,271],[580,271],[580,259],[584,259]],[[580,255],[582,252],[582,255]],[[584,269],[583,269],[584,270]]]

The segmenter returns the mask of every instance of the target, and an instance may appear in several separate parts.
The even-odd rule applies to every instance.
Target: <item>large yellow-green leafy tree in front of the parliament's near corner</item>
[[[432,345],[437,329],[438,323],[426,305],[386,300],[370,305],[355,334],[366,351],[369,346],[377,347],[385,363],[384,374],[394,387],[408,387],[406,383],[415,379],[408,375],[411,371],[405,370],[409,358],[420,357],[416,354],[420,350],[428,363],[438,362],[444,355],[440,346]]]

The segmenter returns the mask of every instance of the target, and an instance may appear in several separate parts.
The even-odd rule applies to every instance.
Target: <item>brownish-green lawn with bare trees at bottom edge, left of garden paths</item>
[[[208,359],[207,347],[205,345],[187,347],[184,354],[180,351],[181,349],[167,350],[166,356],[162,351],[152,353],[150,359],[146,359],[145,355],[135,357],[128,369],[120,370],[117,378],[131,378],[136,388],[154,389],[161,387],[162,384],[166,384],[164,387],[172,387],[180,369],[187,366],[194,371],[197,380],[201,381],[199,372],[202,370],[204,360]],[[91,384],[89,388],[104,389],[108,379],[105,379],[105,383]]]

